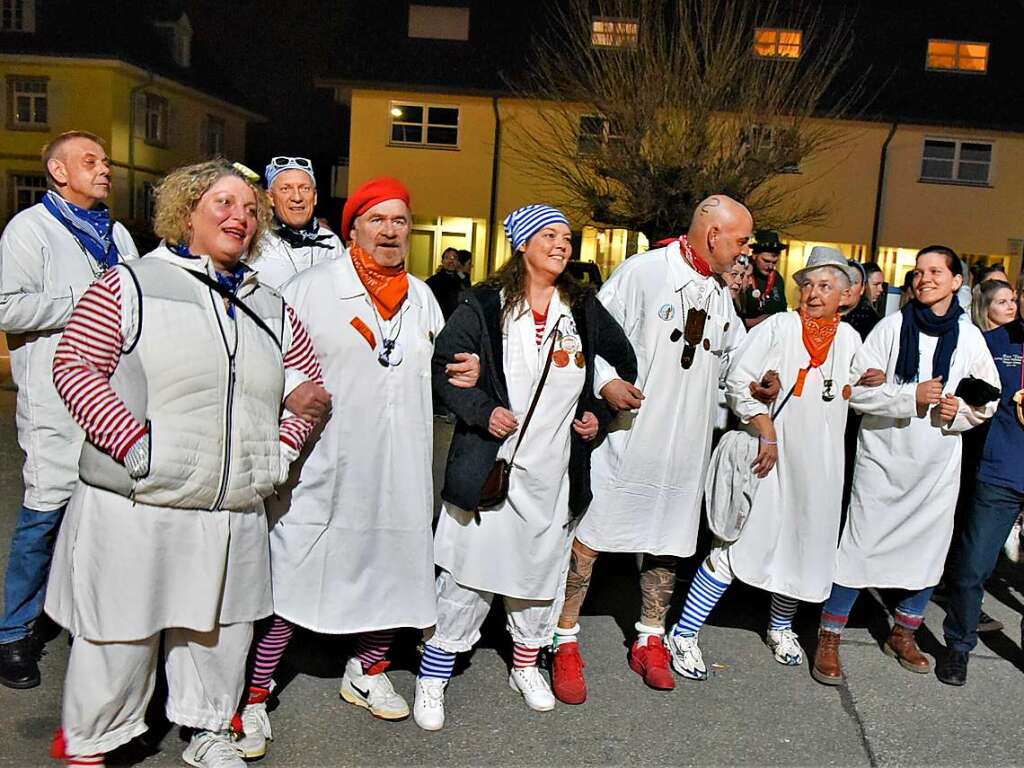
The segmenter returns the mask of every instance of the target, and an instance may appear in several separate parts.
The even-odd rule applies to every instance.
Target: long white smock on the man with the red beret
[[[315,632],[435,621],[430,359],[444,321],[426,285],[409,283],[388,323],[347,255],[306,269],[283,291],[333,399],[330,420],[298,463],[291,498],[267,500],[274,612]],[[397,339],[400,365],[380,365],[382,338]]]

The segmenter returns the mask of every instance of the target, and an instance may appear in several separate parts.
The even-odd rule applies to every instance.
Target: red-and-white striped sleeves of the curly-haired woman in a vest
[[[323,386],[324,375],[309,335],[292,308],[286,309],[292,342],[285,353],[285,368]],[[145,425],[131,415],[110,382],[124,347],[121,316],[121,273],[111,269],[75,305],[53,355],[57,393],[89,441],[119,462],[146,432]],[[313,426],[297,416],[288,416],[281,421],[281,441],[301,451]]]

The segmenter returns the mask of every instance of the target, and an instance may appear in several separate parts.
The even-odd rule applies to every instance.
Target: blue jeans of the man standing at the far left
[[[22,507],[17,513],[4,579],[0,645],[28,637],[32,623],[43,612],[46,579],[63,511],[65,507],[52,512]]]

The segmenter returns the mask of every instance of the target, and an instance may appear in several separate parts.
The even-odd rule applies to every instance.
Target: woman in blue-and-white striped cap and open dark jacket
[[[437,626],[413,711],[427,730],[443,726],[456,654],[479,639],[495,595],[514,643],[509,686],[531,710],[554,708],[538,652],[554,632],[572,521],[591,499],[591,444],[610,416],[593,394],[594,358],[636,377],[622,328],[565,273],[572,232],[561,211],[526,206],[505,229],[511,259],[467,294],[434,354],[434,389],[458,422],[434,539]],[[443,369],[467,349],[480,356],[480,379],[457,389]]]

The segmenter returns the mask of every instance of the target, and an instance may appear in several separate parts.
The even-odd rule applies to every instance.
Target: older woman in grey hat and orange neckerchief
[[[820,602],[831,587],[847,411],[855,384],[877,383],[878,372],[858,382],[853,359],[860,338],[840,323],[840,301],[851,283],[843,255],[817,246],[794,280],[800,286],[799,310],[773,314],[752,329],[727,377],[729,403],[750,436],[728,443],[745,449],[728,459],[723,438],[712,471],[742,477],[752,501],[734,540],[716,540],[697,569],[672,632],[673,667],[693,680],[708,678],[697,634],[734,579],[771,593],[765,640],[775,660],[786,666],[803,660],[793,631],[800,601]],[[768,371],[778,372],[785,392],[773,407],[750,389],[750,382]],[[722,460],[733,463],[729,471],[723,471]],[[715,492],[709,495],[710,517],[718,494],[740,496],[739,488],[718,483]]]

